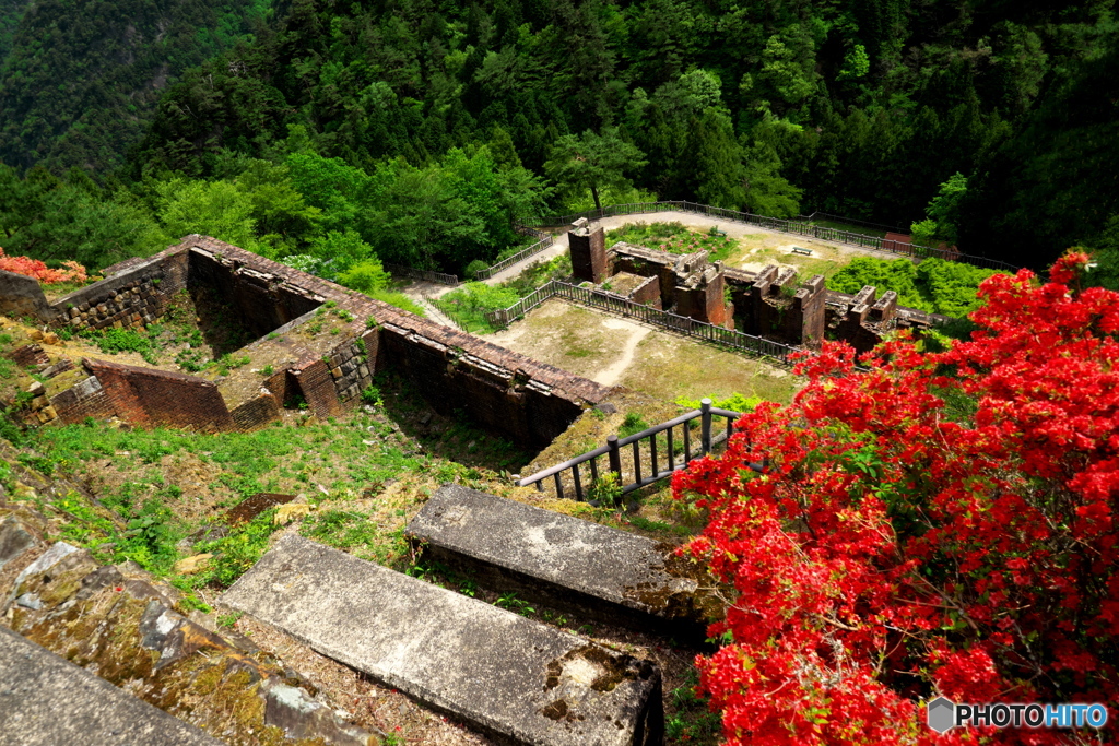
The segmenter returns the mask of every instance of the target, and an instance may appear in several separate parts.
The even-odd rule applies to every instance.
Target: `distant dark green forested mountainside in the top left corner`
[[[115,168],[184,69],[246,38],[267,0],[0,3],[0,159]],[[251,37],[247,37],[251,38]]]

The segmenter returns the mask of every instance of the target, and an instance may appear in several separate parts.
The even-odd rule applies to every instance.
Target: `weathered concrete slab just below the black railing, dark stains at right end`
[[[673,547],[459,484],[440,488],[406,533],[487,587],[595,621],[692,642],[724,614],[714,582]]]

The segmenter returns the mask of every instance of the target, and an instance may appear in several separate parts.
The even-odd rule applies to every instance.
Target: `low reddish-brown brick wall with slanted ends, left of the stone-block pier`
[[[225,399],[213,381],[168,370],[83,360],[104,388],[115,414],[144,427],[186,427],[201,432],[234,428]]]

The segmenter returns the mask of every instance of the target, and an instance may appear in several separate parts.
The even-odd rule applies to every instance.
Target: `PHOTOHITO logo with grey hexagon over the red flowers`
[[[1103,705],[957,705],[937,697],[925,709],[925,721],[937,733],[956,727],[994,726],[996,728],[1102,728],[1108,721]]]

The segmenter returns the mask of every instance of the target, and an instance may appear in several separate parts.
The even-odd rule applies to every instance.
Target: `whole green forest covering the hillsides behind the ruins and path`
[[[461,272],[511,220],[690,199],[1119,265],[1113,0],[25,4],[0,3],[9,253],[190,229]]]

